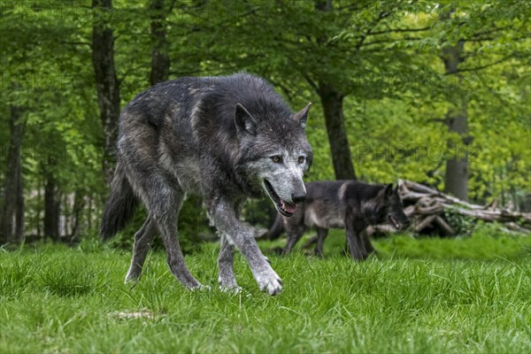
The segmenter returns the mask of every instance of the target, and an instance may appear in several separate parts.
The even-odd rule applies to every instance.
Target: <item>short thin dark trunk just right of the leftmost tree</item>
[[[46,185],[44,186],[44,237],[50,237],[54,242],[58,242],[60,240],[60,198],[58,196],[58,184],[53,172],[50,171],[53,165],[55,165],[53,159],[49,158],[45,172]]]

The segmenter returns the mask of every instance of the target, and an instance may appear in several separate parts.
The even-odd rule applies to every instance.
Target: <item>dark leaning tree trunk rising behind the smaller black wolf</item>
[[[343,96],[334,87],[322,82],[319,82],[318,94],[325,113],[335,179],[356,180],[342,110]]]

